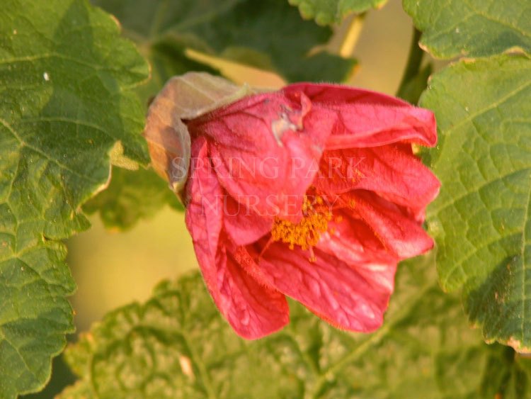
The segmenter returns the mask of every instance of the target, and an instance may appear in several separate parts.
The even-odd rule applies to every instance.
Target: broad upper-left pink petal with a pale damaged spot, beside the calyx
[[[246,97],[187,125],[193,137],[205,135],[212,142],[211,162],[236,201],[254,203],[258,215],[292,218],[300,216],[333,123],[315,113],[304,95],[268,93]]]

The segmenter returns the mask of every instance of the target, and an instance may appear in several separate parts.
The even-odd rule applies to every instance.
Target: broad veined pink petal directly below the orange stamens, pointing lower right
[[[371,332],[382,325],[395,266],[375,267],[360,273],[346,262],[314,249],[315,262],[301,249],[275,243],[266,250],[258,267],[275,288],[295,298],[337,327]]]

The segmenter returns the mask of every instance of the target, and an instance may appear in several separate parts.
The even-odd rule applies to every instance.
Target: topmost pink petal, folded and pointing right
[[[431,111],[385,94],[306,83],[292,84],[283,91],[302,91],[314,108],[323,107],[337,113],[337,123],[326,142],[329,150],[375,147],[399,141],[433,147],[437,142],[435,116]]]

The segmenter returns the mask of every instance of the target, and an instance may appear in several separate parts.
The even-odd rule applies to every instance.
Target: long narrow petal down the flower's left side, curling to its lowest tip
[[[256,339],[275,332],[288,322],[286,300],[274,288],[258,283],[227,253],[227,240],[220,242],[223,191],[208,162],[204,138],[193,142],[192,154],[198,162],[187,185],[185,221],[207,288],[241,337]]]

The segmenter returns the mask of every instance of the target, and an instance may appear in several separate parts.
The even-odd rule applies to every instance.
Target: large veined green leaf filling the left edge
[[[147,163],[130,89],[147,64],[86,1],[5,0],[0,13],[0,397],[39,390],[72,332],[62,240],[108,179],[108,152]]]

